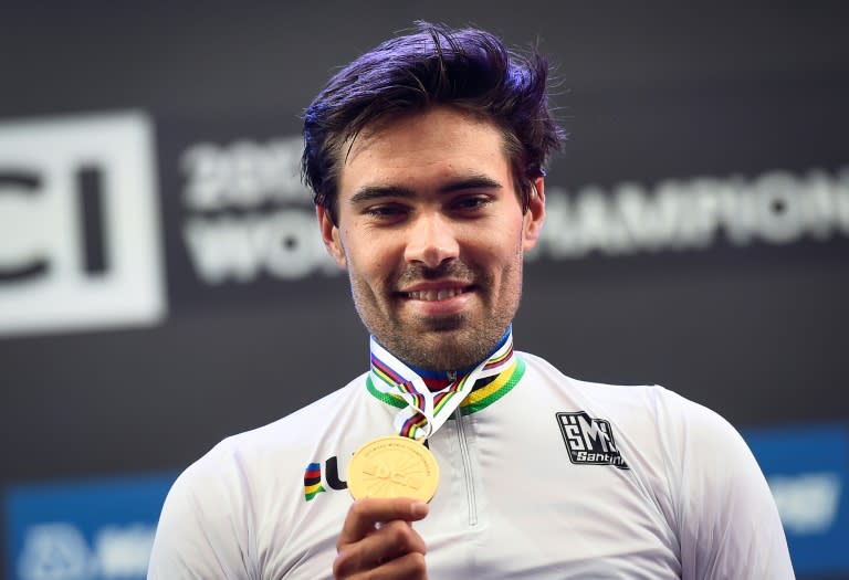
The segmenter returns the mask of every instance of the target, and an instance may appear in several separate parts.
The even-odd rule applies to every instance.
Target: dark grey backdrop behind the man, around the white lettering
[[[838,3],[3,4],[0,122],[127,109],[151,119],[167,314],[0,336],[0,485],[180,468],[367,368],[344,276],[201,280],[185,225],[207,214],[185,202],[181,159],[199,143],[295,136],[335,67],[412,20],[538,40],[569,133],[548,183],[577,199],[589,184],[837,176],[849,166],[847,15]],[[517,348],[579,378],[662,383],[740,428],[845,422],[849,181],[835,182],[846,219],[819,238],[743,245],[720,232],[698,249],[541,252]],[[307,211],[305,198],[283,205]]]

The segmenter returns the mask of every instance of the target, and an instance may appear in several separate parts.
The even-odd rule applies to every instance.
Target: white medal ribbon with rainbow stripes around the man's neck
[[[379,391],[407,402],[392,424],[399,435],[423,442],[442,426],[479,379],[493,377],[513,362],[513,331],[507,328],[495,351],[471,371],[458,373],[446,388],[432,392],[424,380],[371,337],[371,375]]]

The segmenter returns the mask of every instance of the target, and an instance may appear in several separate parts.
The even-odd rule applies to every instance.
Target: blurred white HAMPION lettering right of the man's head
[[[538,253],[553,260],[787,245],[849,236],[849,167],[547,188]]]

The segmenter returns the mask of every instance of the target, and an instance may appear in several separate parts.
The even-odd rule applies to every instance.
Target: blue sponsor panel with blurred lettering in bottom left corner
[[[12,487],[6,496],[7,577],[144,579],[176,474]]]

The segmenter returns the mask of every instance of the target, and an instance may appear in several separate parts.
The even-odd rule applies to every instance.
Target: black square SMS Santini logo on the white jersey
[[[593,419],[585,411],[556,413],[569,461],[576,465],[614,465],[628,470],[614,440],[614,430],[604,419]]]

